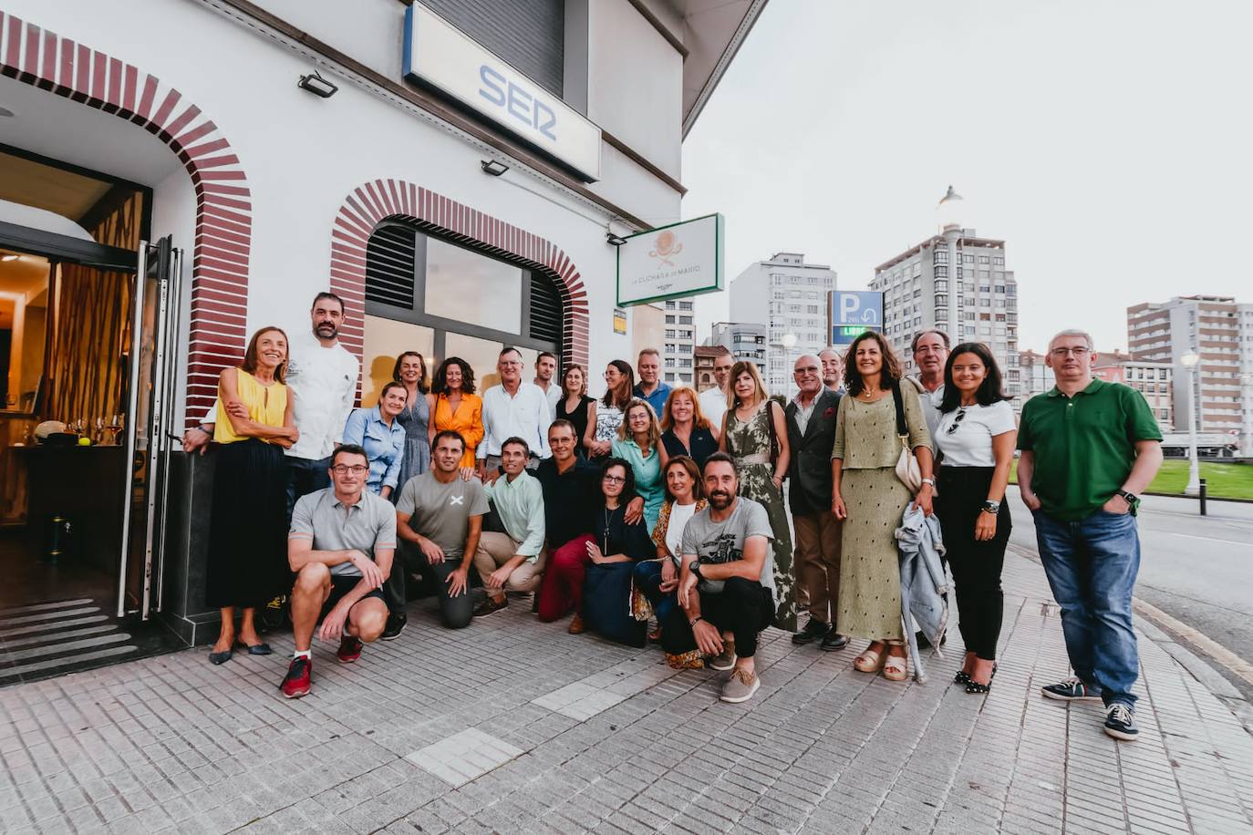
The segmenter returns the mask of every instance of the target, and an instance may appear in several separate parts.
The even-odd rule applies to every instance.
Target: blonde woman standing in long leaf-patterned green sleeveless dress
[[[783,407],[771,399],[757,366],[737,362],[730,368],[732,404],[723,416],[718,449],[736,459],[739,494],[758,502],[771,520],[774,540],[774,626],[796,631],[796,570],[792,532],[783,505],[783,477],[791,452]]]

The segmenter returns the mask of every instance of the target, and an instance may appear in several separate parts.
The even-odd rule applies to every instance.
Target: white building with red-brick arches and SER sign
[[[628,356],[606,230],[680,217],[683,136],[763,6],[0,0],[0,249],[53,273],[108,263],[147,293],[134,247],[127,260],[122,238],[98,234],[108,224],[84,225],[46,189],[15,192],[38,180],[16,174],[33,165],[103,183],[85,205],[132,189],[133,237],[169,242],[145,250],[169,292],[133,319],[154,333],[143,359],[167,372],[159,419],[143,437],[132,416],[124,432],[169,482],[147,487],[159,493],[148,562],[137,572],[134,542],[109,546],[124,556],[119,615],[159,616],[188,642],[217,631],[192,533],[212,476],[168,437],[204,414],[252,332],[306,332],[316,293],[345,299],[341,342],[362,363],[367,406],[401,351],[429,367],[460,356],[480,388],[506,344],[588,366],[594,381]],[[437,66],[419,66],[419,44]],[[469,75],[441,75],[459,68]],[[99,408],[23,419],[125,411]]]

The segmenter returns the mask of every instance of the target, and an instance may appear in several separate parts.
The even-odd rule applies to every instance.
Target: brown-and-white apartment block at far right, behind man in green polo
[[[1126,308],[1128,349],[1136,359],[1170,363],[1174,424],[1187,432],[1222,433],[1239,439],[1248,454],[1253,438],[1253,304],[1228,295],[1177,295]],[[1200,359],[1190,376],[1185,353]]]

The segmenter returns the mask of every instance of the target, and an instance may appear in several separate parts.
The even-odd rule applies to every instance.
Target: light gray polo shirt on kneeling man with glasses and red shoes
[[[356,548],[377,561],[375,551],[396,547],[396,508],[386,498],[362,491],[356,505],[341,502],[333,487],[301,496],[292,508],[288,540],[313,540],[315,551]],[[360,577],[351,562],[331,566],[331,573]]]

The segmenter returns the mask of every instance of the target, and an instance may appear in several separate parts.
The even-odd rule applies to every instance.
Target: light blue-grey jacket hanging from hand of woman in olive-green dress
[[[944,598],[949,591],[949,581],[940,563],[940,555],[944,553],[940,520],[935,515],[923,516],[918,506],[911,502],[905,510],[901,527],[896,528],[896,543],[901,555],[901,618],[910,642],[910,656],[913,658],[913,677],[923,682],[926,670],[918,657],[917,637],[910,626],[910,616],[917,621],[918,628],[938,655],[940,638],[949,626],[949,602]]]

